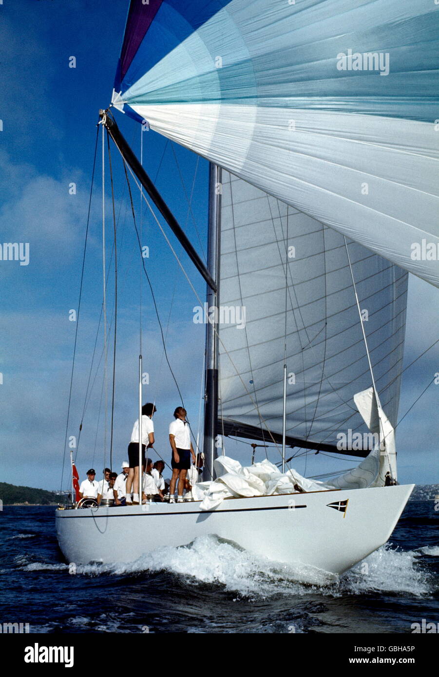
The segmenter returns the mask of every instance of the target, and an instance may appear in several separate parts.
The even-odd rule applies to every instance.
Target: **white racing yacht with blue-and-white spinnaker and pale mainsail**
[[[439,286],[437,259],[418,256],[439,244],[434,11],[430,0],[131,0],[100,122],[217,311],[203,479],[222,479],[223,436],[277,445],[281,474],[296,447],[362,460],[312,491],[230,494],[211,510],[59,509],[67,561],[135,561],[216,534],[339,574],[390,538],[414,486],[398,485],[394,437],[408,274]],[[211,163],[207,266],[121,114]],[[369,435],[373,448],[354,443]]]

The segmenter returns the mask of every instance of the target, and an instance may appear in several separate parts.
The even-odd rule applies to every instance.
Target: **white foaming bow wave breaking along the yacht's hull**
[[[402,551],[386,544],[339,577],[304,565],[270,561],[217,536],[198,537],[188,546],[159,548],[132,563],[29,563],[22,557],[17,564],[24,571],[65,571],[85,576],[167,571],[186,584],[222,586],[245,598],[307,596],[316,592],[339,597],[377,591],[425,596],[432,594],[432,585],[427,574],[416,567],[419,552],[432,555],[438,550],[438,546],[430,546]]]

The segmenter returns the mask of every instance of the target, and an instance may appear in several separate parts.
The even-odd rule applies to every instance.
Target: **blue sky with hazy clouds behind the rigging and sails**
[[[77,308],[98,110],[106,108],[110,102],[127,7],[128,1],[125,0],[111,4],[85,0],[69,3],[62,0],[21,0],[0,7],[3,15],[0,28],[2,42],[8,47],[1,64],[2,91],[5,93],[0,136],[0,178],[3,186],[1,241],[30,244],[29,265],[20,266],[16,261],[2,261],[0,265],[2,481],[47,489],[60,487],[75,338],[75,323],[69,322],[68,315],[70,309]],[[69,68],[70,56],[75,56],[76,68]],[[125,137],[140,154],[140,125],[122,114],[116,116]],[[194,154],[182,148],[172,148],[170,142],[152,132],[144,133],[143,141],[144,165],[153,178],[165,151],[156,185],[203,256],[207,234],[207,162],[202,158],[198,161]],[[112,152],[115,162],[117,153],[114,148]],[[192,190],[195,176],[194,219],[188,213],[174,152],[187,194]],[[117,165],[119,328],[114,466],[119,466],[126,456],[126,445],[137,412],[141,279],[138,245],[123,194],[123,176],[119,163]],[[97,173],[69,435],[77,435],[78,432],[102,304],[100,162]],[[77,184],[76,195],[68,193],[72,182]],[[108,196],[107,190],[107,256],[112,231]],[[138,191],[135,191],[135,200],[136,206],[140,206]],[[192,428],[196,431],[204,326],[192,322],[192,307],[197,302],[163,236],[146,211],[141,218],[142,241],[150,248],[148,270],[161,318],[168,330],[169,359],[190,412]],[[182,256],[198,295],[204,299],[203,281],[173,236],[171,241]],[[163,359],[150,294],[144,283],[142,289],[145,306],[144,370],[150,374],[145,399],[156,399],[156,446],[167,459],[167,424],[180,400]],[[110,284],[107,299],[109,323],[113,299]],[[411,277],[404,364],[409,364],[436,340],[439,335],[438,309],[438,290]],[[100,351],[102,332],[98,340],[98,358]],[[435,347],[405,372],[400,416],[405,414],[438,371],[438,350]],[[101,387],[102,365],[87,404],[77,454],[81,477],[90,464],[100,470],[104,463]],[[397,429],[399,479],[402,483],[439,481],[438,388],[432,385]],[[100,425],[96,436],[99,411]],[[247,445],[226,441],[226,453],[236,456],[241,462],[249,462],[249,449]],[[278,460],[276,454],[272,460]],[[327,461],[328,464],[322,467],[320,459],[310,456],[307,474],[355,464],[346,459]],[[304,472],[304,461],[298,460],[296,467],[299,472]]]

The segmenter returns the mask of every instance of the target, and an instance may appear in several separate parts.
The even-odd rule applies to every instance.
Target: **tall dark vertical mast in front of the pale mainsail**
[[[207,315],[214,307],[213,324],[206,325],[206,375],[205,375],[205,422],[204,444],[205,454],[203,480],[214,479],[213,460],[216,458],[215,437],[218,420],[218,339],[217,319],[219,317],[219,243],[221,237],[221,168],[217,165],[209,167],[209,250],[207,267],[215,289],[207,285]]]

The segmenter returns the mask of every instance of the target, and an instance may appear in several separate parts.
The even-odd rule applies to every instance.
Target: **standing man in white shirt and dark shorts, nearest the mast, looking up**
[[[169,442],[172,449],[172,477],[169,485],[169,503],[175,503],[175,484],[178,479],[177,502],[183,502],[184,481],[190,468],[190,457],[195,463],[195,454],[190,441],[189,424],[186,421],[186,409],[177,407],[174,412],[175,420],[169,424]]]

